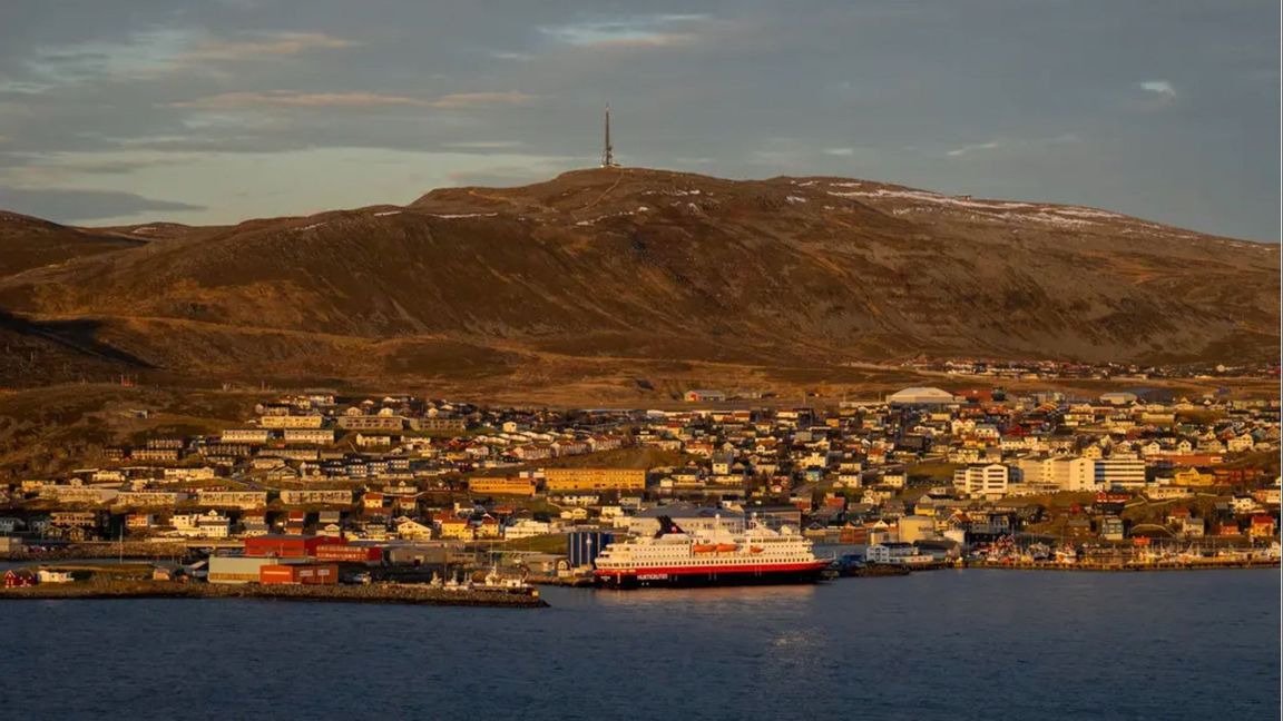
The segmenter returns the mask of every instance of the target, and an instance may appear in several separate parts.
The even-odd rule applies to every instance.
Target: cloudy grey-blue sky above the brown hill
[[[1279,240],[1277,0],[4,0],[0,208],[231,223],[595,165]]]

